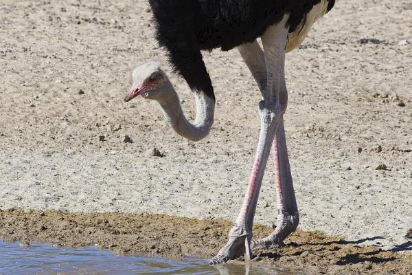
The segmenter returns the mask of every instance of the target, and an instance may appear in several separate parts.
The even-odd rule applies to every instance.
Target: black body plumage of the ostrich
[[[255,41],[268,26],[289,14],[294,32],[313,6],[321,0],[149,0],[156,38],[168,51],[174,71],[194,91],[214,97],[201,50],[220,47],[227,51]],[[334,0],[328,0],[328,10]]]

